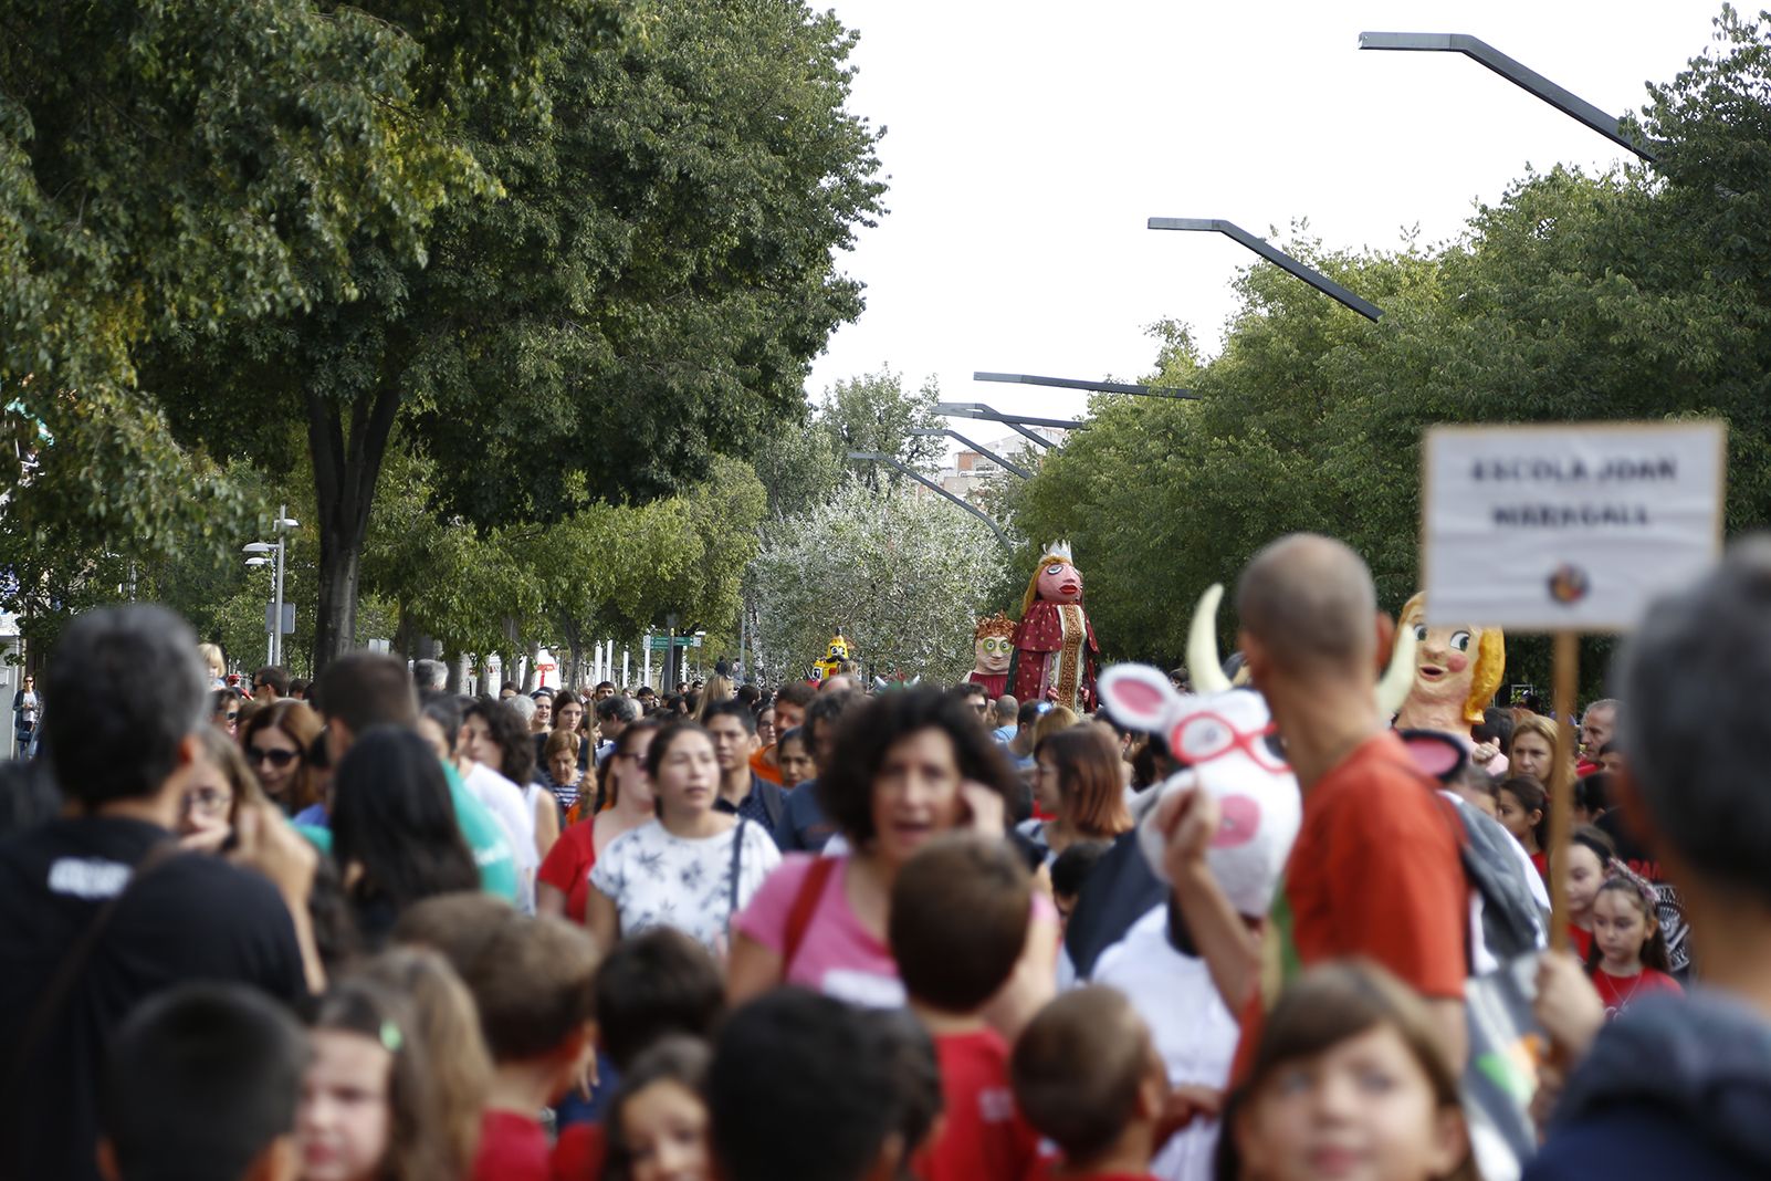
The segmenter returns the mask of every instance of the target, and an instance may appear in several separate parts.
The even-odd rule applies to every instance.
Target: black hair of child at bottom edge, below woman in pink
[[[854,1181],[894,1135],[909,1165],[940,1110],[940,1078],[928,1034],[903,1013],[777,988],[719,1030],[707,1100],[728,1181]]]

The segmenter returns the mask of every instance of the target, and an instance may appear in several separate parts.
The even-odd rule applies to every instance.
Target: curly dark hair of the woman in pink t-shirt
[[[811,724],[809,715],[806,721]],[[997,791],[1004,802],[1015,797],[1020,786],[1015,768],[963,703],[939,689],[889,692],[843,717],[832,765],[818,768],[818,804],[854,848],[873,841],[873,779],[886,753],[923,729],[947,735],[962,777]]]

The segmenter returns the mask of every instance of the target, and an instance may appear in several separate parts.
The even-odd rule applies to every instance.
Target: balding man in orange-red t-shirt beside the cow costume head
[[[1259,1038],[1263,963],[1282,965],[1289,981],[1342,956],[1376,960],[1424,995],[1461,1062],[1463,825],[1378,715],[1380,653],[1396,625],[1378,613],[1371,572],[1341,542],[1295,533],[1249,563],[1236,611],[1252,683],[1303,791],[1303,823],[1264,928],[1250,930],[1206,869],[1217,802],[1203,791],[1176,795],[1156,820],[1169,834],[1176,903],[1224,1002],[1241,1013],[1236,1075]]]

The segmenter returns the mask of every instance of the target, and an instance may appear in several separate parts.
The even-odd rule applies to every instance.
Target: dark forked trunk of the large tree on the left
[[[368,536],[368,510],[388,453],[400,395],[381,388],[351,402],[345,434],[342,407],[308,390],[308,450],[319,506],[321,570],[313,613],[313,675],[356,645],[356,591]]]

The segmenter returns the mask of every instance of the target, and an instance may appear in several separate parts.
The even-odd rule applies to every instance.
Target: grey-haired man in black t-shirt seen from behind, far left
[[[264,873],[175,852],[204,685],[189,627],[147,606],[78,618],[44,673],[43,753],[73,809],[0,841],[0,1177],[99,1176],[104,1050],[145,997],[209,979],[296,1000],[324,983],[313,852],[280,818],[239,818]]]

